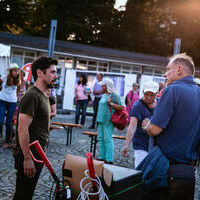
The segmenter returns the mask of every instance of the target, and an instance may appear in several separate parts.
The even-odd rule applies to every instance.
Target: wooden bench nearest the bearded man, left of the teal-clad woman
[[[52,122],[52,125],[62,126],[67,134],[66,146],[72,143],[72,130],[73,128],[81,128],[81,124],[71,124],[63,122]]]

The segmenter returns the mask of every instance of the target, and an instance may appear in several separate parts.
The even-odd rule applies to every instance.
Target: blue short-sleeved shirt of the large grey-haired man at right
[[[170,162],[197,159],[200,142],[200,88],[192,76],[173,82],[163,92],[151,123],[164,130],[157,145]]]

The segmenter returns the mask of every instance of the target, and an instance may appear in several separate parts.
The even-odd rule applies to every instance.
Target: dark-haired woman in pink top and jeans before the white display
[[[87,86],[87,76],[80,75],[79,81],[75,86],[75,102],[76,102],[76,113],[75,113],[75,123],[79,124],[80,113],[81,125],[84,126],[86,118],[86,110],[88,106],[88,95],[90,94],[90,88]]]

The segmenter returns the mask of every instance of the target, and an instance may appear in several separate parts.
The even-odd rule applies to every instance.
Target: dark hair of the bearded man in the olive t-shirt
[[[36,59],[32,64],[32,75],[34,78],[34,81],[37,80],[37,70],[40,69],[42,71],[46,71],[51,65],[57,65],[58,61],[54,60],[53,58],[41,56],[38,59]]]

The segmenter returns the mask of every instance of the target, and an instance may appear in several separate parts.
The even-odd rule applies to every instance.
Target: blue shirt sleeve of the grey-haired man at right
[[[169,124],[174,110],[173,88],[166,88],[155,108],[151,123],[162,128]]]

